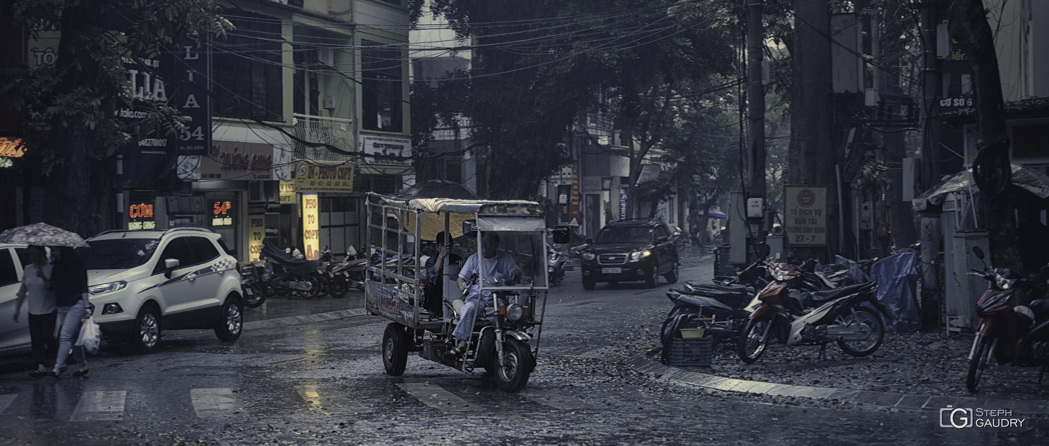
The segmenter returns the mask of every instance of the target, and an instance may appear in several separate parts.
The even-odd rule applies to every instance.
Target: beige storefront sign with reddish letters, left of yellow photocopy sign
[[[270,144],[216,141],[211,156],[200,156],[200,179],[273,179]]]

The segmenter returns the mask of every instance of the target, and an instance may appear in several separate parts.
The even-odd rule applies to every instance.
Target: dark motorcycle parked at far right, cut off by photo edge
[[[972,252],[983,260],[983,250],[973,247]],[[1018,290],[1045,286],[1049,267],[1043,268],[1034,280],[1021,278],[1006,268],[972,271],[969,274],[979,274],[987,280],[987,291],[977,301],[980,328],[969,349],[965,386],[969,391],[976,391],[984,369],[992,361],[1024,367],[1041,365],[1041,385],[1042,376],[1049,369],[1049,299],[1031,300],[1027,305],[1014,302],[1019,300]]]

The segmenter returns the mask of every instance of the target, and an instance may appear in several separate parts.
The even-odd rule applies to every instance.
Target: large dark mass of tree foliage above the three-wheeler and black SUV
[[[722,3],[434,0],[432,13],[475,42],[472,70],[458,78],[466,86],[438,88],[463,92],[445,106],[472,125],[485,195],[534,195],[570,161],[565,143],[586,112],[602,112],[607,127],[638,142],[631,170],[640,171],[645,152],[676,125],[677,95],[730,71]]]

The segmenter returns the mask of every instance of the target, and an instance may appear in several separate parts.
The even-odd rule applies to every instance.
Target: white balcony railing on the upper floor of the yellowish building
[[[295,136],[309,143],[324,143],[345,152],[356,152],[357,144],[354,137],[354,121],[338,118],[312,116],[294,113]],[[322,163],[346,163],[352,156],[336,152],[327,147],[309,147],[295,143],[296,160],[308,160]]]

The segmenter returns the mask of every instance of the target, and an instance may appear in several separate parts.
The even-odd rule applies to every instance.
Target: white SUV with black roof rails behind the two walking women
[[[243,328],[237,259],[220,235],[200,228],[107,231],[78,249],[87,266],[94,320],[155,352],[160,330],[214,328],[232,342]]]

